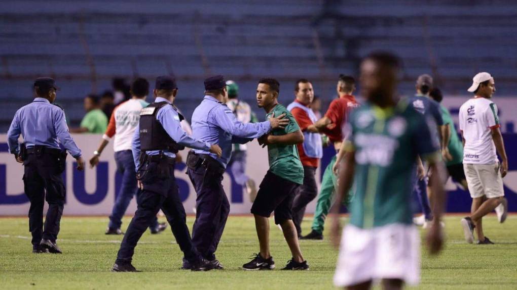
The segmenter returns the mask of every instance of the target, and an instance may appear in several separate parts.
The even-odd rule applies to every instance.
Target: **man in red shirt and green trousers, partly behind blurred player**
[[[336,153],[339,153],[343,139],[347,136],[347,116],[348,112],[359,104],[352,93],[355,91],[355,79],[351,76],[340,75],[338,80],[337,92],[339,98],[332,100],[330,106],[320,120],[313,125],[307,127],[309,132],[320,132],[328,136],[330,142],[333,143]],[[301,127],[301,126],[300,126]],[[316,210],[314,212],[314,220],[312,222],[312,231],[301,237],[306,240],[323,240],[323,228],[325,225],[325,217],[327,216],[330,206],[332,205],[336,190],[336,175],[334,175],[332,167],[336,163],[336,156],[330,160],[321,183],[320,196],[318,197]],[[348,194],[349,198],[353,194]],[[346,202],[348,203],[349,200]]]

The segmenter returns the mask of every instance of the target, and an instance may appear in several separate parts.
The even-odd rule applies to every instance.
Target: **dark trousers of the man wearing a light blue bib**
[[[305,214],[305,208],[318,194],[315,175],[316,167],[303,166],[303,185],[298,187],[292,208],[293,223],[298,232],[298,236],[301,235],[301,221]]]

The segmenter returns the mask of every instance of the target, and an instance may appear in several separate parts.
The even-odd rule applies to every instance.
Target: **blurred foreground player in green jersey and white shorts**
[[[420,276],[420,236],[413,225],[412,174],[419,155],[434,170],[434,219],[428,232],[430,253],[442,248],[439,222],[444,204],[445,173],[438,140],[432,137],[425,116],[405,99],[398,100],[399,60],[388,53],[373,53],[360,67],[366,104],[349,118],[338,199],[346,198],[354,183],[349,224],[343,230],[334,284],[348,289],[369,289],[382,280],[383,288],[416,284]],[[340,204],[336,202],[336,204]],[[332,212],[331,239],[339,245],[339,206]]]

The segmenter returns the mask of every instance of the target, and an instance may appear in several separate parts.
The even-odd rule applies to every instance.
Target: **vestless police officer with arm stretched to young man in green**
[[[205,97],[192,114],[192,137],[219,144],[222,156],[206,149],[191,150],[187,157],[187,173],[197,193],[196,219],[192,229],[192,241],[203,258],[212,262],[215,269],[222,269],[215,252],[230,212],[221,181],[226,164],[232,153],[232,143],[244,144],[261,137],[271,129],[283,128],[288,120],[272,116],[262,123],[241,123],[226,107],[227,91],[223,76],[205,80]],[[184,261],[184,268],[189,265]]]

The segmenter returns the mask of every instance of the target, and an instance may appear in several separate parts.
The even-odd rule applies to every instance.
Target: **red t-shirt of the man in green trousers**
[[[354,96],[343,95],[334,99],[328,107],[325,116],[330,119],[330,124],[322,130],[331,142],[343,141],[343,126],[347,122],[350,109],[359,106]]]

